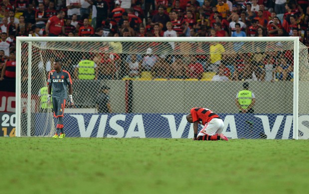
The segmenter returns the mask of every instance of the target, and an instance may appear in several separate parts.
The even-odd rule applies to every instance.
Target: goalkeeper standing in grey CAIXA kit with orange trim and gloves
[[[54,117],[57,118],[56,134],[53,138],[64,138],[65,133],[63,130],[63,114],[65,101],[67,98],[67,86],[69,87],[69,105],[72,106],[73,102],[73,88],[70,73],[62,70],[62,62],[56,59],[54,62],[54,70],[49,72],[47,82],[47,103],[50,104],[51,90],[52,90],[52,105]]]

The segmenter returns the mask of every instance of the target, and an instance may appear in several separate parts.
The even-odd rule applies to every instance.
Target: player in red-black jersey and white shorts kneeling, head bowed
[[[189,123],[193,123],[193,140],[225,140],[228,138],[222,134],[224,128],[223,120],[220,116],[207,108],[191,108],[190,114],[186,116]],[[204,125],[203,129],[197,133],[198,124]]]

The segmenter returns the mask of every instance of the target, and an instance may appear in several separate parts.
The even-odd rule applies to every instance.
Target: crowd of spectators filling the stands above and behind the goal
[[[103,37],[243,37],[299,36],[309,47],[308,0],[2,0],[0,3],[0,80],[14,79],[16,36]],[[241,45],[240,45],[241,46]],[[240,47],[234,45],[237,51]],[[232,46],[233,47],[233,46]],[[175,45],[170,43],[170,48]],[[291,51],[237,56],[226,45],[209,45],[209,56],[81,55],[67,64],[73,79],[82,79],[85,60],[93,75],[83,79],[206,79],[214,81],[293,79]],[[197,51],[198,52],[198,51]],[[188,58],[188,59],[187,59]],[[46,71],[53,59],[40,62]],[[72,62],[72,61],[71,61]],[[49,68],[47,68],[49,63]],[[117,65],[118,64],[118,65]],[[251,64],[251,65],[248,65]],[[26,67],[24,67],[26,69]],[[254,74],[253,74],[254,72]],[[254,76],[252,76],[254,75]]]

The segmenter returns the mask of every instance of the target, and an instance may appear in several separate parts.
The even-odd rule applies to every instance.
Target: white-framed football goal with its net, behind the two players
[[[17,136],[54,134],[44,87],[61,59],[75,102],[64,107],[67,137],[192,138],[185,116],[205,107],[229,138],[309,138],[309,57],[297,37],[17,37],[16,51]]]

